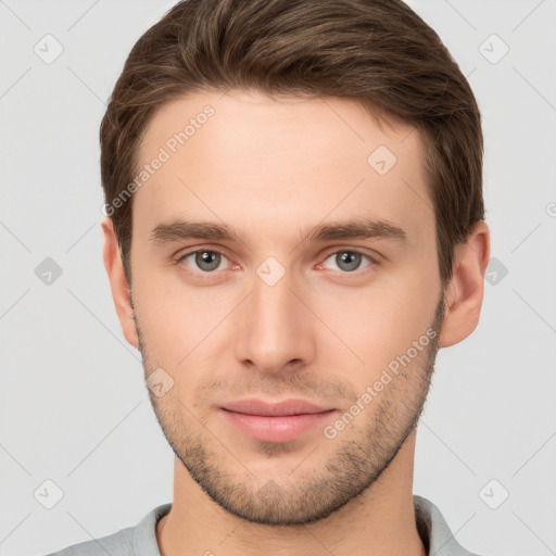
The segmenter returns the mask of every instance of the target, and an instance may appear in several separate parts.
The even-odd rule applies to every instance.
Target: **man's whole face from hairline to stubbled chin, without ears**
[[[419,134],[346,99],[203,92],[156,112],[139,160],[157,168],[131,296],[169,444],[237,516],[330,515],[429,388],[444,306]]]

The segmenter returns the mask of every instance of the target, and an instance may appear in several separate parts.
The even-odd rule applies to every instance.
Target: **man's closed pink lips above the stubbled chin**
[[[261,400],[230,402],[220,410],[243,434],[264,442],[289,442],[323,425],[336,412],[304,400],[266,403]]]

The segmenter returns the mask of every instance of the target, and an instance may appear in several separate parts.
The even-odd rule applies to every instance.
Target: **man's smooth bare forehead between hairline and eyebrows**
[[[379,126],[350,99],[197,92],[155,112],[138,160],[138,173],[151,167],[134,229],[187,217],[294,236],[296,223],[353,215],[403,223],[409,235],[433,226],[419,132]]]

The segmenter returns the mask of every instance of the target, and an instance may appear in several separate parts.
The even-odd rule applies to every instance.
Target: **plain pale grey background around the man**
[[[172,501],[173,452],[102,264],[98,129],[131,46],[173,4],[0,0],[1,555]],[[478,329],[439,353],[414,491],[468,549],[556,554],[556,1],[409,4],[481,106],[496,260]],[[55,53],[47,34],[63,46],[51,63],[34,51]]]

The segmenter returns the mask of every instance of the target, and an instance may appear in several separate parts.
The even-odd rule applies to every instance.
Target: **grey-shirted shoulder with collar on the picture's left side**
[[[156,543],[156,522],[170,508],[170,503],[163,504],[149,511],[135,527],[74,544],[47,556],[161,556]]]

